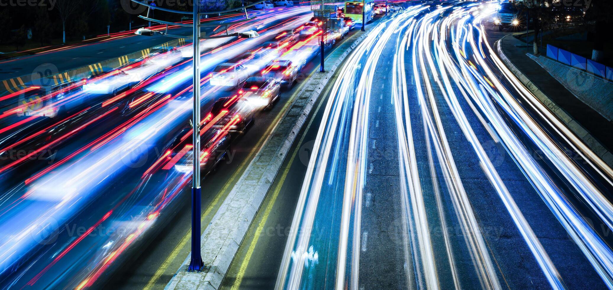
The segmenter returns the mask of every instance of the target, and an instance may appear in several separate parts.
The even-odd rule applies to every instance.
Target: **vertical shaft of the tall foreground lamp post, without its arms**
[[[201,191],[200,191],[200,14],[199,1],[194,1],[194,113],[192,124],[194,135],[192,142],[194,147],[194,174],[192,174],[192,240],[191,261],[188,270],[200,271],[204,266],[200,256],[200,214],[201,214]]]

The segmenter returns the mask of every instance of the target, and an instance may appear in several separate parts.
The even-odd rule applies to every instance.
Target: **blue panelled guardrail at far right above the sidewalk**
[[[554,47],[547,44],[547,57],[555,59],[560,63],[582,71],[590,72],[596,77],[604,78],[605,80],[613,81],[613,67],[605,66],[601,63],[596,63],[592,59],[584,58],[583,56],[563,50],[562,48]]]

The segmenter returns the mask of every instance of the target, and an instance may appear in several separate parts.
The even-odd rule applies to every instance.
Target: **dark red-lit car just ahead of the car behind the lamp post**
[[[255,109],[248,99],[235,94],[232,97],[220,97],[213,104],[207,118],[217,120],[212,124],[212,128],[245,134],[249,126],[256,121]]]

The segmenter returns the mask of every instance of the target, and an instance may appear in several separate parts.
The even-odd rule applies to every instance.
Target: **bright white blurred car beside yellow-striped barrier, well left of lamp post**
[[[90,94],[118,94],[132,88],[141,80],[139,75],[128,74],[122,69],[116,69],[109,74],[88,80],[83,85],[83,91]]]

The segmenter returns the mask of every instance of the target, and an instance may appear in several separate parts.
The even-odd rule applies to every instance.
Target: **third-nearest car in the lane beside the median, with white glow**
[[[238,94],[254,107],[270,108],[281,96],[281,83],[272,77],[249,77]]]

